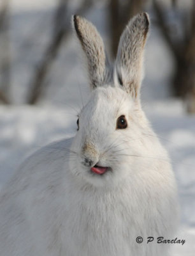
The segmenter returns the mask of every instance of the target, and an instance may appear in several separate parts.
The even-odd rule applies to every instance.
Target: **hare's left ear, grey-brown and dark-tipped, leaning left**
[[[111,74],[101,36],[92,23],[78,15],[73,16],[73,28],[87,57],[91,88],[103,86]]]

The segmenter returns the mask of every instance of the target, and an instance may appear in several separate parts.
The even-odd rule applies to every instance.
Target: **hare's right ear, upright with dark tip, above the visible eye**
[[[143,49],[149,28],[147,13],[133,17],[120,36],[117,60],[115,63],[115,79],[133,97],[140,94],[142,79]]]

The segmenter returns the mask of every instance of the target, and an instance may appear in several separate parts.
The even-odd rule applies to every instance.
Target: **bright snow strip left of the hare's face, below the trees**
[[[50,141],[73,136],[73,109],[14,106],[0,108],[0,188],[18,165]]]

